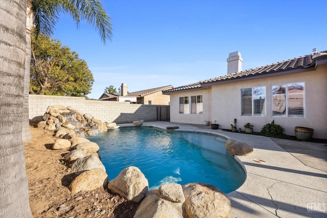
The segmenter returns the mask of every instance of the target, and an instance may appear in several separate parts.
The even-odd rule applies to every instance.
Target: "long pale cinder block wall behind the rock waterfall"
[[[157,107],[169,105],[136,105],[128,102],[87,101],[80,97],[29,95],[29,119],[32,123],[42,120],[50,105],[72,106],[83,113],[89,113],[103,122],[117,124],[132,123],[134,120],[157,120]]]

